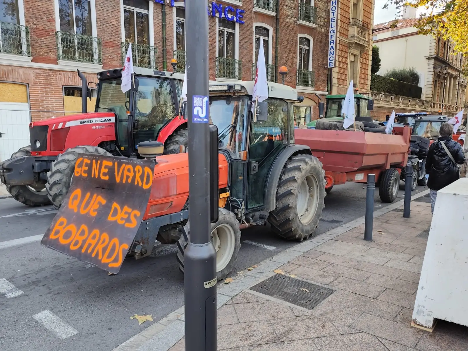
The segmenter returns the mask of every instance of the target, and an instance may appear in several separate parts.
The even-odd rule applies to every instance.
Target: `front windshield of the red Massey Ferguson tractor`
[[[97,94],[96,112],[113,112],[117,115],[117,140],[121,147],[128,147],[128,101],[130,90],[122,93],[122,80],[101,80]]]

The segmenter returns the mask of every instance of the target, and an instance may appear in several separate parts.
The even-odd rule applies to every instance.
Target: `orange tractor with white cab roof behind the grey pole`
[[[218,128],[219,146],[219,217],[211,227],[218,280],[234,267],[241,229],[268,221],[280,237],[302,241],[313,235],[322,215],[322,163],[310,147],[294,142],[297,92],[277,83],[268,86],[270,96],[254,116],[253,81],[210,82],[210,122]],[[190,241],[188,154],[162,152],[160,144],[149,201],[127,255],[140,259],[151,254],[156,241],[176,243],[183,271]],[[60,157],[72,161],[74,154],[67,151]],[[73,174],[75,164],[70,164]]]

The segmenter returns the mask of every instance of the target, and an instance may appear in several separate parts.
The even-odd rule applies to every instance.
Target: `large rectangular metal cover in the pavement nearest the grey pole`
[[[282,274],[275,274],[250,290],[290,302],[294,305],[312,309],[335,292],[333,289],[306,283]]]

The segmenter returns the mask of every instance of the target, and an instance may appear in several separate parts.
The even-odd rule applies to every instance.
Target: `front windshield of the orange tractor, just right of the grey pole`
[[[247,97],[213,96],[210,100],[210,124],[218,127],[219,147],[240,158],[245,150]]]

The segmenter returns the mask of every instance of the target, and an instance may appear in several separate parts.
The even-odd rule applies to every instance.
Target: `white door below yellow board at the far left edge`
[[[0,162],[30,144],[30,116],[27,102],[0,102]]]

